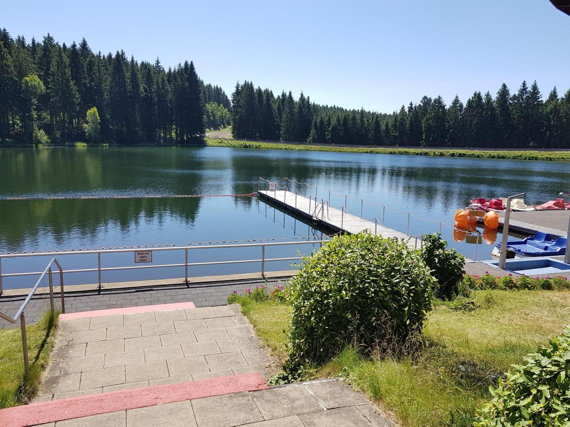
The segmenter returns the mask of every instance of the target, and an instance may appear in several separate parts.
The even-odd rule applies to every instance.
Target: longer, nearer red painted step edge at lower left
[[[32,403],[0,410],[1,427],[24,427],[71,418],[150,407],[183,400],[200,399],[244,391],[266,390],[259,373],[225,376],[188,383],[154,385],[99,395]]]

